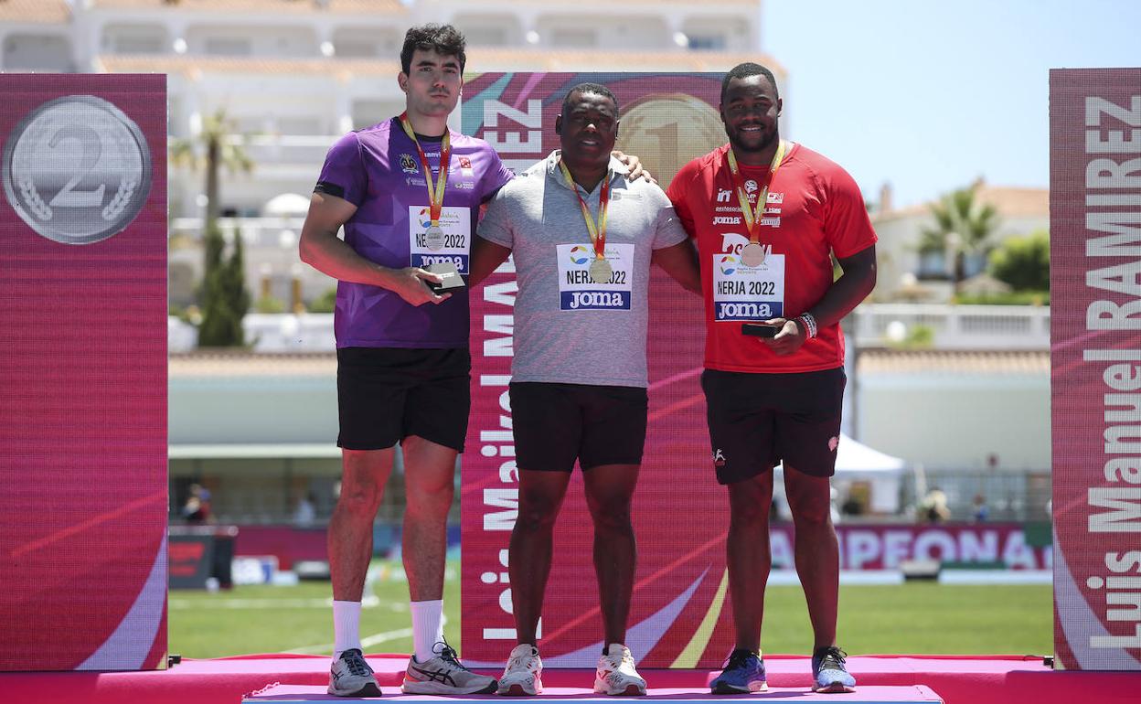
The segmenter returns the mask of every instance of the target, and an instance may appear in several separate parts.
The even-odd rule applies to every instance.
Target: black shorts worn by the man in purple
[[[337,397],[346,450],[383,450],[415,435],[463,452],[471,355],[461,349],[343,347]]]

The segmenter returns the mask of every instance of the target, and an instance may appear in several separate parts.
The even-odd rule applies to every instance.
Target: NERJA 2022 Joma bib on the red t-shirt
[[[784,257],[769,254],[750,267],[738,254],[713,254],[713,319],[784,317]]]

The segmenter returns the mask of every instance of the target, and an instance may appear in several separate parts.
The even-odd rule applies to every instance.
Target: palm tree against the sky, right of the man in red
[[[979,184],[974,184],[960,188],[932,203],[934,225],[921,230],[920,251],[952,252],[956,292],[965,278],[966,257],[986,254],[990,250],[990,236],[998,229],[998,211],[976,200],[978,187]]]

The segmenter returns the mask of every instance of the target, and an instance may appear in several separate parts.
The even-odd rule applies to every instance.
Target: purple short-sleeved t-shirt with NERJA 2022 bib
[[[439,173],[440,140],[416,136],[428,156],[432,185]],[[452,157],[440,227],[444,245],[430,249],[428,186],[416,145],[393,118],[349,132],[329,149],[317,191],[357,207],[345,224],[345,242],[357,254],[391,268],[448,260],[469,272],[469,250],[482,203],[511,180],[486,141],[451,132]],[[380,286],[339,282],[333,315],[337,347],[468,346],[468,290],[439,304],[411,306]]]

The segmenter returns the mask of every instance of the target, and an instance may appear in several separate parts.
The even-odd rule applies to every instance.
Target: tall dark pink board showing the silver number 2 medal
[[[0,75],[0,671],[167,650],[167,83]]]

